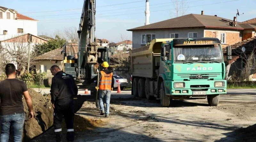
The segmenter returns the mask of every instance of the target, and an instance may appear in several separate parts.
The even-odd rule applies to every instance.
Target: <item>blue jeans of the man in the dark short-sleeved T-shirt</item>
[[[23,134],[23,125],[25,121],[25,113],[0,116],[1,118],[1,142],[8,142],[10,135],[10,127],[13,127],[13,141],[21,142]]]

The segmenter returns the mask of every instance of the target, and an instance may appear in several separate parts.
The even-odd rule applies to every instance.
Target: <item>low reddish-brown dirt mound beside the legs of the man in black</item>
[[[95,127],[100,126],[100,124],[102,124],[101,119],[89,119],[89,118],[85,118],[85,117],[82,117],[82,116],[79,116],[79,115],[74,116],[74,130],[75,131],[91,130]],[[67,129],[65,121],[62,122],[61,127],[63,129]]]

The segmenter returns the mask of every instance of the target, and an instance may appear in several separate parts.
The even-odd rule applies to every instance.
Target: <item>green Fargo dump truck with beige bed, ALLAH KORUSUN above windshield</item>
[[[148,46],[132,49],[130,57],[132,94],[160,98],[163,107],[172,99],[206,98],[210,106],[217,106],[219,95],[227,93],[217,38],[154,39]]]

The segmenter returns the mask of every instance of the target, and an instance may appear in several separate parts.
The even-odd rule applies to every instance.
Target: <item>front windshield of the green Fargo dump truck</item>
[[[174,62],[222,62],[219,44],[174,46]]]

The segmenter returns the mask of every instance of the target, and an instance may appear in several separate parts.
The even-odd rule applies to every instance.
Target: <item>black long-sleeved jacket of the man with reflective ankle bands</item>
[[[63,71],[59,71],[52,78],[51,85],[51,97],[52,103],[55,101],[73,98],[78,93],[78,88],[76,86],[74,78],[64,73]]]

